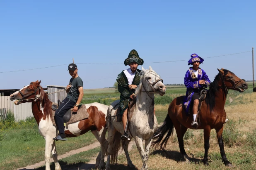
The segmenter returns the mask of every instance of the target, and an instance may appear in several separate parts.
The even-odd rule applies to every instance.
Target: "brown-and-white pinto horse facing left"
[[[50,170],[50,158],[51,154],[55,163],[55,170],[61,170],[58,163],[58,155],[56,151],[55,141],[56,126],[53,126],[52,121],[52,102],[48,99],[47,94],[40,86],[41,81],[31,82],[29,85],[23,87],[21,90],[10,95],[10,100],[15,100],[14,104],[18,105],[25,102],[32,102],[32,113],[36,119],[36,123],[39,127],[39,133],[46,140],[45,143],[45,162],[46,170]],[[76,123],[68,125],[68,130],[65,128],[66,137],[77,137],[85,134],[89,130],[98,139],[101,144],[101,149],[106,141],[106,112],[108,106],[99,103],[86,104],[89,118],[81,120]],[[106,142],[105,142],[106,143]],[[96,167],[104,165],[104,154],[99,155],[96,160]]]

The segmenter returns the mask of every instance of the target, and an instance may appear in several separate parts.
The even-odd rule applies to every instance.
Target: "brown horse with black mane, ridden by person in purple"
[[[215,129],[220,146],[222,162],[224,162],[226,166],[232,167],[232,163],[227,160],[225,155],[222,140],[223,124],[226,119],[224,106],[229,89],[244,92],[244,89],[247,89],[248,86],[245,80],[238,78],[234,73],[223,68],[221,70],[218,69],[218,71],[219,74],[215,77],[213,83],[211,83],[207,92],[207,97],[202,103],[202,108],[198,115],[200,121],[197,129],[204,130],[205,156],[202,160],[203,163],[208,165],[210,131],[211,129]],[[186,116],[185,110],[182,107],[183,99],[184,96],[181,96],[175,98],[171,102],[168,108],[168,115],[165,118],[163,125],[158,128],[158,130],[162,132],[162,136],[157,137],[152,145],[160,145],[161,149],[165,151],[168,139],[173,135],[173,127],[175,127],[181,154],[186,161],[190,161],[184,149],[183,137],[188,128],[192,129],[191,122],[193,121],[193,117],[192,114]]]

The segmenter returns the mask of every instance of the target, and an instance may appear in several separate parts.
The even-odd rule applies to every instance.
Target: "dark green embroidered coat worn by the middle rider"
[[[132,85],[138,86],[140,84],[140,78],[142,74],[143,71],[137,69],[136,74],[133,78]],[[116,81],[118,83],[118,92],[120,92],[120,114],[123,115],[123,112],[128,108],[130,95],[133,94],[135,90],[130,90],[130,88],[128,87],[128,79],[123,71],[120,74],[118,74]]]

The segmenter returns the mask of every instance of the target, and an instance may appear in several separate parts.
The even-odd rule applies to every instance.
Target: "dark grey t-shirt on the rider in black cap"
[[[83,81],[82,79],[78,76],[77,78],[71,78],[69,83],[71,84],[70,90],[68,92],[67,98],[71,99],[74,102],[77,102],[78,96],[80,94],[78,87],[83,87]]]

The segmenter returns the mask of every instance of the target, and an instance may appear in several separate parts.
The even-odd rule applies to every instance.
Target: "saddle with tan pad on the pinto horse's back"
[[[61,102],[60,100],[58,100],[58,104],[53,103],[51,106],[51,109],[53,110],[53,125],[56,126],[55,120],[54,120],[54,113],[55,111],[58,109],[58,107],[60,106]],[[89,114],[87,112],[87,108],[85,106],[85,104],[80,104],[78,106],[77,112],[72,112],[73,111],[74,106],[68,110],[65,115],[63,116],[63,121],[68,129],[68,123],[75,123],[78,122],[80,120],[86,119],[89,117]]]

